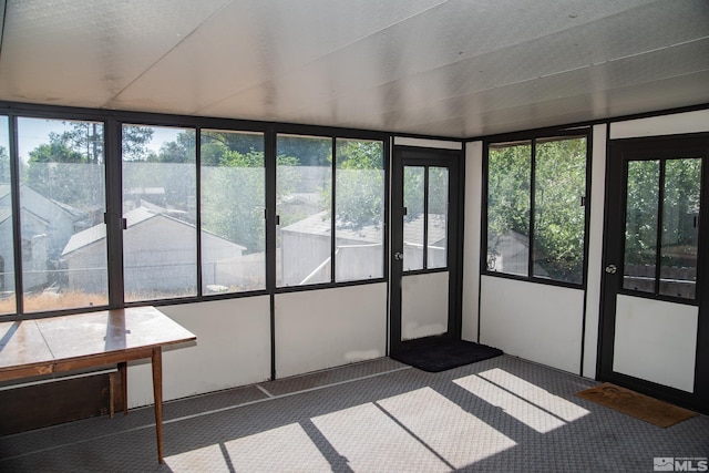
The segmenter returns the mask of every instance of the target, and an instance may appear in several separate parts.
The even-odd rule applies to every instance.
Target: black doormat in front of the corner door
[[[392,353],[390,358],[434,373],[499,357],[502,353],[502,350],[486,345],[445,339]]]

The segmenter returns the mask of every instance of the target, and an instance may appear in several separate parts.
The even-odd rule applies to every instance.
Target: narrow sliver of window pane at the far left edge
[[[0,315],[14,313],[14,244],[10,189],[10,135],[7,116],[0,116]]]

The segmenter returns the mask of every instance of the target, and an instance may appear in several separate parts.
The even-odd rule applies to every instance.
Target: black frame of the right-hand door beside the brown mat
[[[678,154],[679,152],[679,154]],[[626,222],[627,165],[629,161],[702,156],[701,195],[697,256],[697,298],[688,304],[698,307],[697,350],[693,393],[658,384],[613,370],[615,351],[616,299],[618,295],[644,297],[623,289],[624,234]],[[606,167],[604,253],[596,378],[664,399],[699,412],[709,413],[709,133],[641,137],[610,141]],[[610,265],[617,274],[608,273]],[[682,301],[649,295],[650,299]]]

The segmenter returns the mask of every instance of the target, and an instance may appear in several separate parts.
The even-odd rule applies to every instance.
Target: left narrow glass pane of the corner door
[[[403,167],[403,270],[423,269],[425,167]]]

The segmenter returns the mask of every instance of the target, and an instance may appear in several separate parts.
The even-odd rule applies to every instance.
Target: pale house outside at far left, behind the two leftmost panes
[[[0,184],[0,291],[14,289],[12,273],[12,198],[10,185]],[[66,204],[47,198],[27,185],[20,186],[22,227],[22,282],[25,291],[60,282],[58,269],[62,249],[71,236],[85,227],[88,215]]]

